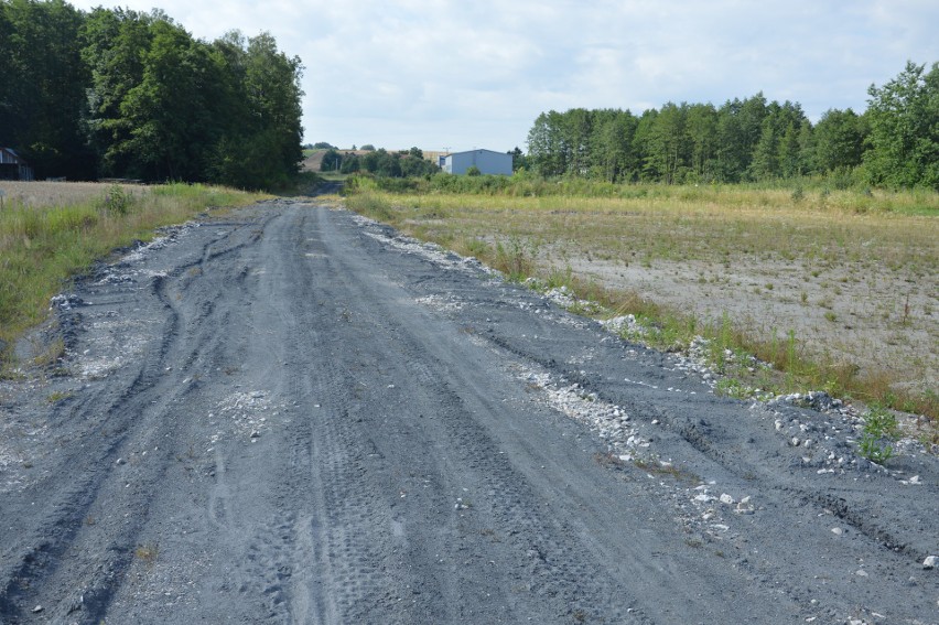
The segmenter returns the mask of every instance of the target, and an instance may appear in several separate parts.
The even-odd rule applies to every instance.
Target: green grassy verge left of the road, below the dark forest
[[[60,183],[67,188],[66,183]],[[130,194],[119,186],[74,202],[48,205],[10,201],[0,212],[0,360],[28,327],[45,319],[48,300],[96,259],[160,226],[180,224],[208,208],[245,205],[260,195],[229,188],[169,184]]]

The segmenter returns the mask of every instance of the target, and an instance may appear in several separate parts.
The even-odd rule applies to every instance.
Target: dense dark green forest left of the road
[[[37,177],[269,187],[303,158],[301,72],[267,33],[208,43],[159,10],[0,0],[0,147]]]

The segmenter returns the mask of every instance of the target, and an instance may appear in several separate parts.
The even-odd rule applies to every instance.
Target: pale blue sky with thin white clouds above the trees
[[[72,1],[89,10],[107,1]],[[527,149],[544,111],[762,91],[813,122],[939,61],[936,0],[122,0],[193,36],[267,31],[305,67],[304,142]]]

